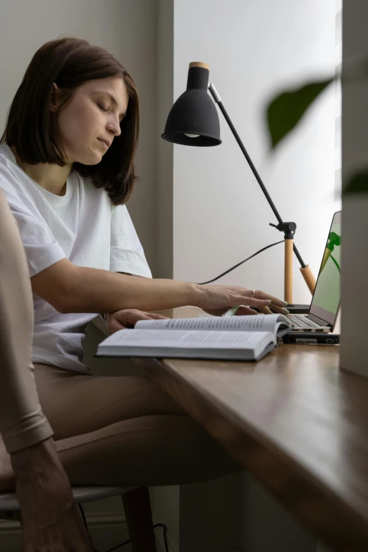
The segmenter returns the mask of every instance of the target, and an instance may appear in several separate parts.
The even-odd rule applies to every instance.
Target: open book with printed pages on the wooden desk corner
[[[290,331],[283,314],[141,320],[97,348],[97,357],[259,360]]]

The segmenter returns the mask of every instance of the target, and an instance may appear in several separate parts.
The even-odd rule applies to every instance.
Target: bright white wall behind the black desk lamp
[[[312,107],[273,159],[264,125],[267,99],[284,86],[335,67],[334,0],[176,0],[174,96],[185,90],[190,61],[210,65],[223,105],[295,243],[317,276],[334,204],[333,87]],[[174,278],[207,281],[283,238],[274,214],[219,111],[219,147],[174,146]],[[294,301],[310,294],[295,257]],[[283,245],[217,283],[283,295]]]

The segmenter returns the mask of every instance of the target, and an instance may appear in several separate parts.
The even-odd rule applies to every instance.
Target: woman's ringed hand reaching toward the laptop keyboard
[[[254,290],[254,297],[251,297],[252,290],[240,286],[213,286],[206,284],[198,286],[197,307],[200,307],[209,314],[221,316],[227,309],[242,305],[236,312],[240,314],[257,314],[252,307],[257,307],[264,314],[270,314],[270,308],[281,314],[288,314],[285,308],[287,303],[281,299]]]

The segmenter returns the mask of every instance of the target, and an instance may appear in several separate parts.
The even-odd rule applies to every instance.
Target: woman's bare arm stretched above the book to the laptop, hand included
[[[39,272],[31,278],[31,282],[33,292],[63,314],[104,313],[130,308],[155,311],[185,305],[207,310],[238,305],[284,305],[262,291],[257,291],[256,297],[251,298],[251,291],[239,286],[199,286],[176,280],[126,276],[75,266],[68,259],[61,259]]]

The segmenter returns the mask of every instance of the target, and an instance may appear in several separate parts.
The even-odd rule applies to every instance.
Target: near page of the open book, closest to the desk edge
[[[109,347],[157,347],[157,348],[229,348],[254,349],[266,336],[275,341],[267,332],[233,331],[183,331],[183,330],[119,330],[106,338],[99,349]]]

